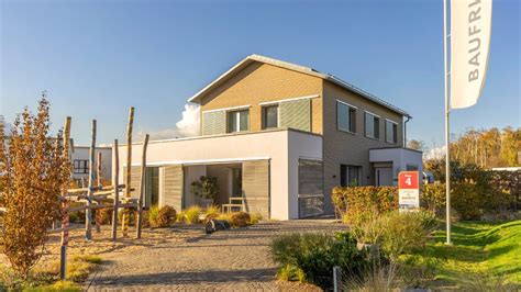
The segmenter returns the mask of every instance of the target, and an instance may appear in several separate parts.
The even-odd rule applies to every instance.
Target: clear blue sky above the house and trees
[[[443,143],[443,2],[0,0],[0,114],[34,109],[42,90],[54,128],[73,116],[86,144],[135,127],[174,127],[186,100],[250,54],[313,67],[407,110],[408,136]],[[520,126],[520,3],[495,0],[489,71],[452,132]]]

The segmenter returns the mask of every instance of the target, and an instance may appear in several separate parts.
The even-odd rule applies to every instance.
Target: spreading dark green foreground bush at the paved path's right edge
[[[275,238],[270,248],[274,260],[280,265],[279,276],[306,280],[323,289],[332,288],[335,266],[356,277],[369,267],[367,251],[356,248],[350,233],[287,234]]]

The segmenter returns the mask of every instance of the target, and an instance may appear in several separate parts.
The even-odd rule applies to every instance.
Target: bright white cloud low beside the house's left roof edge
[[[176,123],[173,128],[164,128],[148,133],[151,139],[167,139],[167,138],[180,138],[180,137],[193,137],[199,136],[200,132],[200,108],[195,104],[185,104],[182,111],[182,117]],[[137,133],[138,137],[145,134],[143,130]]]

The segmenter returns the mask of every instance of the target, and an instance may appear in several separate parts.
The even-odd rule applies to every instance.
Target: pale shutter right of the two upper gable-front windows
[[[311,131],[311,103],[309,99],[281,102],[280,126]]]

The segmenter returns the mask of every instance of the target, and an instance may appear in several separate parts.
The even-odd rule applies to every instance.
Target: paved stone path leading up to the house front
[[[177,244],[147,247],[134,255],[117,255],[86,284],[89,291],[280,291],[309,287],[277,282],[269,243],[290,232],[331,232],[331,220],[263,222],[246,228],[204,235],[202,227],[174,228],[185,233]]]

